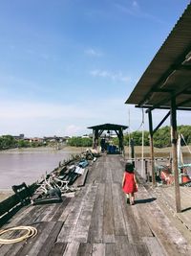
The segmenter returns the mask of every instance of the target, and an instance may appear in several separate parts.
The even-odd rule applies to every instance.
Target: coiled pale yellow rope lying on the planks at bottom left
[[[5,230],[1,230],[0,231],[0,236],[7,233],[7,232],[10,232],[10,231],[15,231],[15,230],[27,230],[27,232],[22,235],[21,237],[19,238],[14,238],[14,239],[3,239],[3,238],[0,238],[0,244],[13,244],[13,243],[18,243],[18,242],[21,242],[23,240],[26,240],[30,237],[34,237],[36,234],[37,234],[37,229],[35,227],[32,227],[32,226],[16,226],[16,227],[11,227],[9,229],[5,229]]]

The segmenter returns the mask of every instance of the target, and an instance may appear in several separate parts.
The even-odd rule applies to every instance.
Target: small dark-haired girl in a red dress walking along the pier
[[[135,204],[135,192],[138,192],[138,183],[134,174],[134,166],[132,163],[125,165],[125,173],[122,180],[122,190],[127,195],[130,204]]]

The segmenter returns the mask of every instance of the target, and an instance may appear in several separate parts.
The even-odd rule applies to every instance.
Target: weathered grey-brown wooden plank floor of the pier
[[[74,198],[23,208],[4,228],[32,225],[38,234],[27,242],[0,244],[0,255],[191,255],[187,241],[143,185],[136,205],[126,203],[123,170],[121,156],[102,155]]]

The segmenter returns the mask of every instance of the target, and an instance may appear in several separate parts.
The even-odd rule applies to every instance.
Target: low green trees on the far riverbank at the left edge
[[[11,135],[0,136],[0,150],[9,150],[14,148],[29,148],[43,146],[42,142],[30,142],[28,140],[16,140]]]

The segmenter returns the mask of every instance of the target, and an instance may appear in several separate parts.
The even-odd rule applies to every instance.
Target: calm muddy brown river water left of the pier
[[[0,190],[10,190],[12,185],[21,184],[23,181],[30,185],[40,180],[46,172],[51,173],[60,161],[67,160],[72,154],[81,151],[71,148],[60,151],[52,148],[1,151]]]

